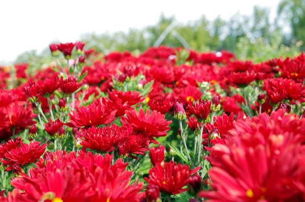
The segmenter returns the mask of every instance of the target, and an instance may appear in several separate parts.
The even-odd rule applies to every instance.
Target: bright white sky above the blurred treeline
[[[83,33],[128,31],[157,24],[160,14],[175,15],[178,22],[198,20],[205,15],[229,19],[237,13],[250,15],[253,6],[270,8],[276,16],[279,0],[219,1],[10,1],[0,2],[0,65],[13,62],[28,50],[46,48],[52,41],[75,42]]]

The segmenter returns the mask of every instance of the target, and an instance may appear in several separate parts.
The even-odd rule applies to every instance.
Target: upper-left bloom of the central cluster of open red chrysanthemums
[[[107,125],[114,121],[116,111],[108,110],[105,105],[96,106],[94,104],[87,107],[77,107],[76,112],[71,111],[69,114],[70,123],[66,124],[69,127],[91,127],[98,125]]]

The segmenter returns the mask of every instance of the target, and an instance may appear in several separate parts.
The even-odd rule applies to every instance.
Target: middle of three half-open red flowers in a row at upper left
[[[44,97],[50,97],[53,92],[59,87],[57,76],[53,76],[52,79],[45,79],[43,82],[41,80],[38,80],[37,84],[37,88],[40,95]]]

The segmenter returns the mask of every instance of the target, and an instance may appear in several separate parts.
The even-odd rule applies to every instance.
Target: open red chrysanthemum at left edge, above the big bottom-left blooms
[[[5,171],[10,171],[14,165],[24,166],[35,162],[44,153],[46,146],[46,144],[40,146],[39,142],[29,143],[29,145],[20,142],[19,147],[5,153],[5,159],[1,161],[4,165],[9,165]]]

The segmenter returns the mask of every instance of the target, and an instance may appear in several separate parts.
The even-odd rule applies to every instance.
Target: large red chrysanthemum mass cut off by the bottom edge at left
[[[67,154],[57,151],[51,159],[40,159],[37,168],[22,174],[12,185],[23,190],[19,201],[126,201],[139,202],[145,193],[143,183],[131,184],[132,172],[128,163],[118,159],[111,165],[112,156],[80,152]],[[44,163],[45,162],[45,163]]]

